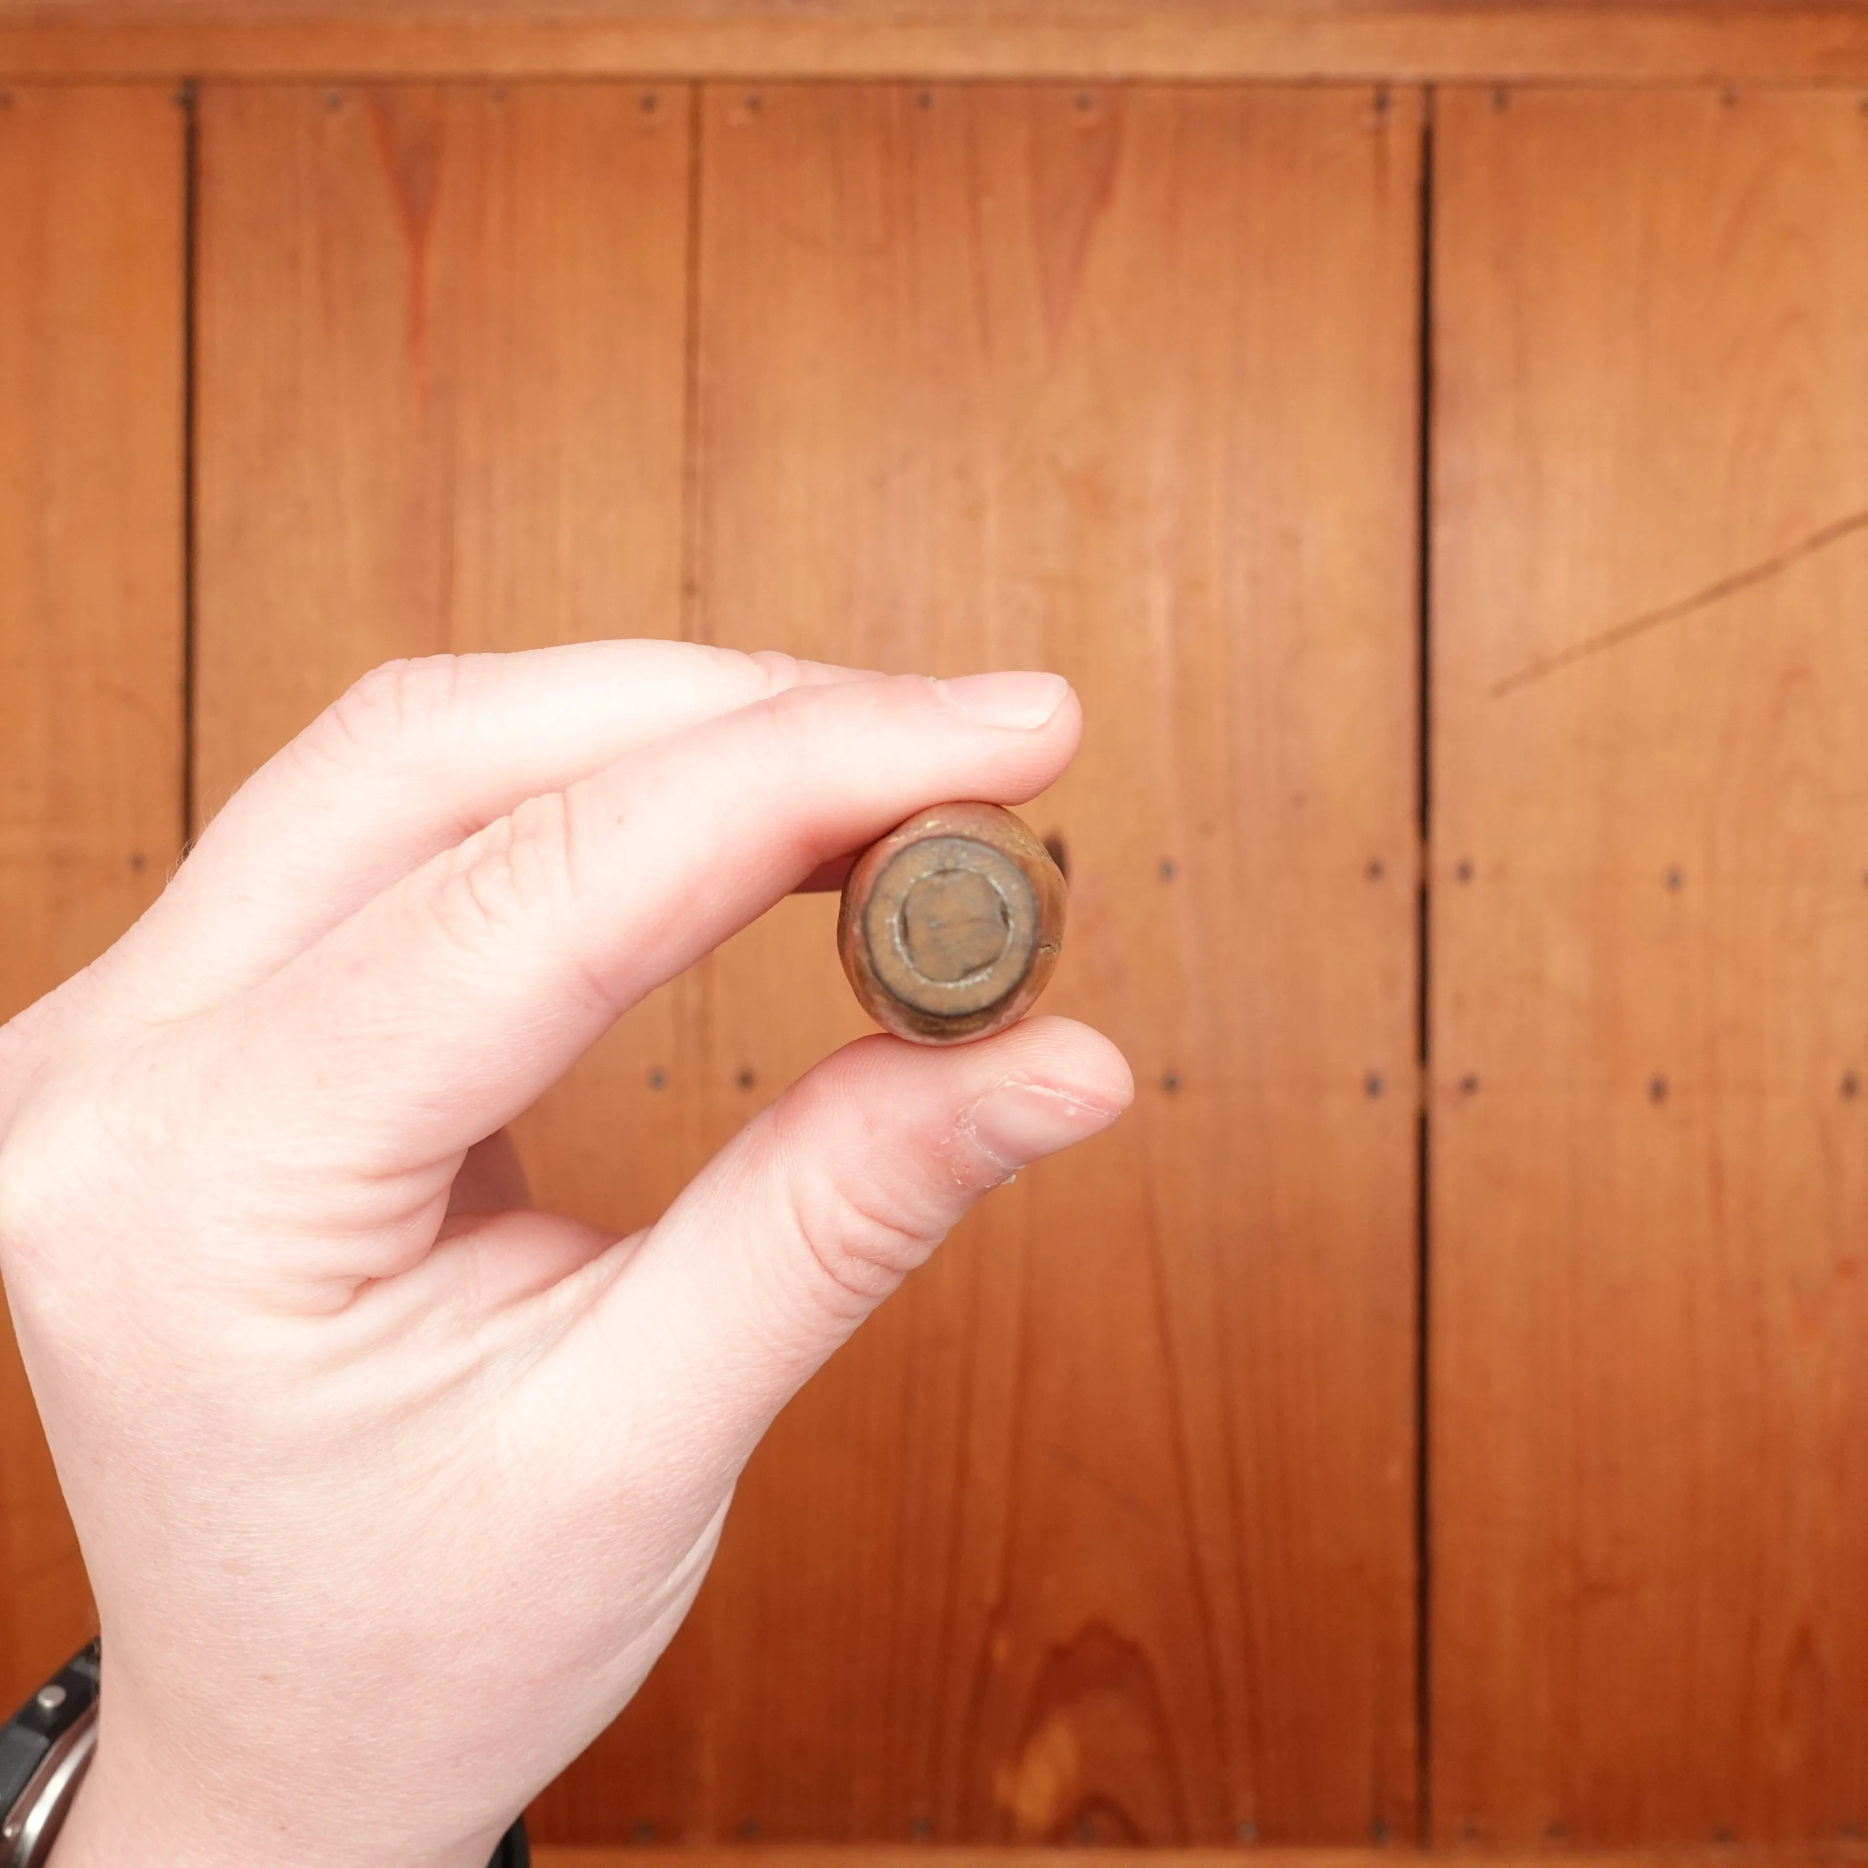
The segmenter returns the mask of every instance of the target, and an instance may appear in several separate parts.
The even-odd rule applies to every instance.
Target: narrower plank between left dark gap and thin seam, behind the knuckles
[[[200,814],[379,661],[680,633],[687,159],[678,86],[204,93]],[[687,992],[523,1125],[540,1199],[682,1184]]]

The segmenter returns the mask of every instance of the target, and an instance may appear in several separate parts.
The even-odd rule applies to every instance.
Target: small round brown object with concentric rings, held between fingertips
[[[988,1037],[1050,983],[1067,895],[1050,852],[1011,811],[936,805],[856,859],[837,953],[863,1009],[897,1037]]]

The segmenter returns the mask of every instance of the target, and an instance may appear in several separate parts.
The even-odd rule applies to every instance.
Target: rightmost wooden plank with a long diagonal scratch
[[[1868,1821],[1862,226],[1855,97],[1442,97],[1442,1838]]]

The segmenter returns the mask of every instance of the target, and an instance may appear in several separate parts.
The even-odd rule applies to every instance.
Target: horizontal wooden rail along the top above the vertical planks
[[[0,0],[0,71],[1861,82],[1857,0]]]

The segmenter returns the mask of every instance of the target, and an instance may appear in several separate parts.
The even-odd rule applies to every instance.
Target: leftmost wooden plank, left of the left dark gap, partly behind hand
[[[181,205],[168,88],[0,92],[0,1020],[181,848]],[[0,1705],[90,1629],[0,1323]]]

